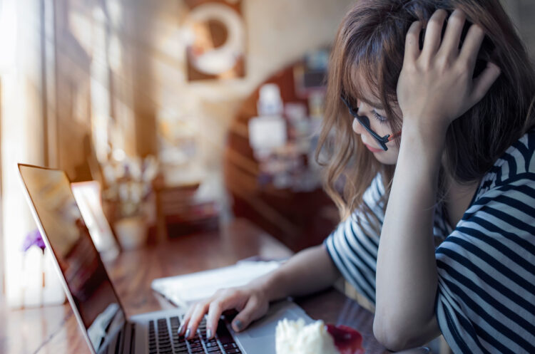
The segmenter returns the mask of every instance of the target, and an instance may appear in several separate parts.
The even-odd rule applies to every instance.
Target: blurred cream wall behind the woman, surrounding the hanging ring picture
[[[533,56],[535,2],[502,2]],[[161,120],[186,119],[200,132],[199,160],[208,166],[215,193],[224,197],[222,146],[241,100],[277,69],[330,43],[352,3],[244,0],[246,77],[188,83],[180,28],[186,11],[180,0],[0,0],[2,12],[12,9],[9,16],[19,19],[13,28],[13,21],[1,24],[2,33],[9,33],[2,36],[0,63],[4,191],[19,188],[6,170],[21,160],[16,147],[24,141],[33,147],[27,159],[87,179],[86,138],[101,125],[111,121],[106,134],[116,147],[148,155],[158,150]],[[6,70],[9,66],[16,70]],[[9,204],[8,194],[1,197]],[[4,208],[4,232],[7,212]]]

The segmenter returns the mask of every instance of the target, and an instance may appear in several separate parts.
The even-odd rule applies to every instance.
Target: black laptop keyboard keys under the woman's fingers
[[[225,322],[219,320],[218,330],[213,339],[206,339],[206,321],[200,323],[195,337],[186,340],[178,335],[180,320],[177,316],[159,318],[156,323],[148,323],[148,353],[149,354],[238,354],[242,353],[230,335]],[[156,326],[155,326],[156,325]]]

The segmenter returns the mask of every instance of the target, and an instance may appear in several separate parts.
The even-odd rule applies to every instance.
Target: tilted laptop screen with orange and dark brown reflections
[[[19,170],[39,218],[36,222],[65,278],[73,311],[78,312],[93,350],[101,353],[123,327],[125,316],[68,178],[61,170],[26,165],[19,165]]]

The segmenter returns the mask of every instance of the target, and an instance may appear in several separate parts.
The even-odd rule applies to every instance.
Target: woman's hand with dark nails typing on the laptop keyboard
[[[208,300],[195,303],[189,308],[178,334],[193,338],[200,321],[206,314],[206,337],[213,338],[221,314],[223,311],[232,309],[238,311],[232,326],[235,331],[239,332],[247,328],[251,322],[264,316],[268,307],[269,301],[265,292],[258,285],[250,284],[238,288],[220,289]]]

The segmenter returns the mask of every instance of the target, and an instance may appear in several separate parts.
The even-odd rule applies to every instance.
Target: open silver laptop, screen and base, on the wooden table
[[[312,322],[295,303],[281,301],[241,333],[235,333],[230,319],[222,316],[213,340],[206,340],[204,321],[195,338],[185,340],[177,334],[183,308],[126,318],[66,173],[24,164],[19,164],[19,172],[31,212],[46,246],[54,254],[56,269],[91,353],[274,354],[278,321],[303,318]]]

